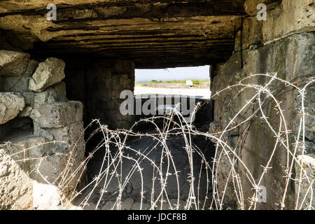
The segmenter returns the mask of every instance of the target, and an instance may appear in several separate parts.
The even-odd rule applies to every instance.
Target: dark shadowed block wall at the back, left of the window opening
[[[85,106],[85,125],[92,119],[112,128],[129,128],[133,116],[121,115],[120,92],[134,91],[134,63],[128,60],[78,59],[66,62],[66,93]]]

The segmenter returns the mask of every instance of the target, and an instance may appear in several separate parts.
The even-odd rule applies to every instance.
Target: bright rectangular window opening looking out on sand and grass
[[[150,94],[181,95],[210,99],[210,66],[169,69],[136,69],[135,97]]]

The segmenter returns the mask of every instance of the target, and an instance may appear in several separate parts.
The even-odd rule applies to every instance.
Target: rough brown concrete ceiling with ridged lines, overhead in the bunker
[[[224,62],[243,15],[244,0],[0,1],[1,34],[36,57],[132,59],[137,68]]]

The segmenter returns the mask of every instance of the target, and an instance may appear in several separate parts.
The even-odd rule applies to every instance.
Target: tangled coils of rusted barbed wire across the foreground
[[[251,84],[251,79],[257,78],[259,76],[264,76],[267,79],[267,82],[264,85]],[[190,173],[186,179],[189,183],[190,189],[186,195],[184,205],[185,209],[224,209],[224,199],[228,192],[228,186],[232,183],[232,190],[235,193],[235,198],[237,202],[237,207],[239,209],[257,209],[258,203],[258,189],[262,180],[264,179],[267,172],[271,169],[271,163],[274,160],[274,155],[276,151],[281,151],[286,153],[286,165],[284,165],[284,170],[286,175],[283,176],[285,181],[285,186],[283,188],[283,195],[281,197],[281,202],[279,202],[279,209],[286,208],[286,197],[288,197],[288,186],[290,181],[296,181],[298,188],[295,189],[297,195],[295,199],[295,208],[294,209],[314,209],[312,207],[314,192],[314,176],[309,176],[304,172],[303,162],[297,160],[297,155],[305,155],[305,117],[308,116],[307,111],[304,105],[304,99],[307,96],[307,87],[314,83],[314,77],[304,78],[303,85],[297,85],[294,82],[289,82],[288,80],[283,80],[276,76],[276,73],[272,74],[252,74],[246,78],[239,80],[235,85],[229,85],[223,90],[220,90],[211,95],[211,99],[215,99],[220,96],[220,94],[225,94],[225,92],[233,92],[233,99],[240,97],[241,94],[250,89],[253,91],[253,94],[250,98],[246,99],[246,103],[240,106],[232,118],[228,121],[225,127],[221,127],[215,132],[201,132],[197,130],[194,125],[189,123],[183,123],[183,115],[176,109],[171,109],[171,113],[167,116],[153,116],[152,118],[145,118],[137,121],[132,125],[130,130],[111,130],[108,126],[102,125],[99,120],[92,120],[90,125],[88,125],[84,132],[80,134],[80,138],[84,137],[87,128],[96,125],[97,127],[91,132],[90,136],[87,137],[86,141],[89,142],[96,134],[102,134],[101,140],[97,143],[95,148],[92,149],[89,155],[85,158],[83,162],[80,162],[80,165],[73,168],[74,161],[76,160],[75,149],[78,146],[79,140],[76,143],[69,146],[69,153],[55,153],[54,155],[47,155],[42,158],[27,158],[26,151],[30,148],[23,148],[23,151],[14,153],[14,155],[23,155],[23,158],[19,160],[20,162],[27,162],[29,160],[38,160],[37,167],[32,170],[32,172],[37,172],[47,183],[51,186],[57,186],[59,189],[60,195],[59,199],[61,202],[62,209],[67,209],[71,207],[71,204],[74,202],[78,203],[78,207],[83,208],[89,205],[89,200],[94,195],[94,193],[99,190],[99,198],[97,200],[95,209],[100,209],[102,199],[104,195],[108,193],[107,188],[111,181],[115,180],[118,183],[116,191],[116,202],[113,204],[111,209],[121,209],[122,207],[122,198],[123,191],[127,187],[130,179],[134,174],[139,174],[141,182],[140,194],[140,209],[144,204],[145,192],[144,192],[144,176],[143,168],[141,164],[144,161],[150,162],[153,168],[153,179],[152,179],[152,190],[149,199],[150,209],[162,209],[163,204],[166,203],[170,209],[179,209],[180,207],[180,184],[179,184],[179,174],[181,170],[176,168],[176,162],[172,156],[172,150],[167,146],[167,141],[172,136],[181,136],[185,142],[185,148],[183,149],[186,153],[188,164],[190,166]],[[301,99],[300,109],[300,119],[298,130],[295,134],[289,128],[288,118],[284,113],[284,109],[281,106],[281,102],[277,99],[277,94],[272,85],[275,83],[282,83],[285,87],[291,87],[290,91],[296,90],[299,93]],[[276,85],[279,86],[279,85]],[[267,105],[274,105],[274,109],[277,111],[277,122],[272,123],[272,121],[267,117],[264,112],[264,108]],[[230,106],[230,102],[227,103]],[[253,106],[256,105],[256,108]],[[196,113],[200,109],[201,104],[197,104],[195,107]],[[250,109],[253,106],[251,113]],[[246,114],[246,116],[245,116]],[[156,123],[156,120],[163,119],[163,127],[159,127]],[[244,146],[244,139],[242,139],[241,134],[239,134],[239,139],[237,139],[237,144],[235,147],[232,147],[228,144],[228,139],[226,135],[232,130],[239,129],[239,133],[248,132],[248,126],[253,123],[253,120],[260,119],[265,123],[265,126],[269,129],[269,132],[274,135],[274,145],[272,148],[269,148],[270,156],[266,164],[259,164],[262,167],[262,172],[259,174],[258,178],[254,177],[251,173],[251,170],[246,165],[246,161],[242,160],[238,151]],[[152,125],[155,129],[155,132],[148,133],[139,133],[134,131],[135,127],[141,123],[148,123]],[[213,141],[215,144],[214,158],[206,158],[202,149],[198,148],[193,144],[192,137],[202,136]],[[132,148],[128,146],[127,139],[129,137],[147,137],[151,139],[152,144],[150,148],[146,148],[144,151],[139,151],[137,148]],[[294,137],[295,141],[292,139]],[[44,144],[66,144],[65,142],[47,142]],[[4,146],[11,145],[10,142],[0,145],[0,148]],[[40,146],[40,145],[38,145]],[[36,148],[38,146],[33,146]],[[155,151],[156,148],[162,147],[160,150],[160,162],[155,162],[150,158],[150,153]],[[97,151],[104,150],[104,158],[102,158],[102,166],[99,169],[97,176],[94,177],[90,183],[87,183],[83,188],[79,188],[79,183],[85,176],[85,171],[87,169],[87,164],[92,160],[93,156]],[[134,155],[137,155],[137,158],[134,158],[126,151],[133,152]],[[194,170],[195,165],[195,155],[201,160],[200,169],[196,173]],[[284,155],[284,154],[283,154]],[[46,160],[52,156],[64,156],[67,158],[67,164],[65,169],[59,174],[58,179],[54,182],[48,181],[48,179],[41,174],[40,167],[43,160]],[[228,162],[228,176],[224,183],[220,183],[220,189],[223,189],[222,192],[218,192],[218,173],[221,166],[226,166],[222,163],[223,158],[226,158],[225,162]],[[132,168],[124,176],[123,175],[123,160],[130,160],[133,162]],[[242,174],[240,173],[238,167],[241,166]],[[166,169],[165,169],[166,167]],[[300,174],[293,176],[294,167],[300,167]],[[202,172],[205,173],[205,177],[202,176]],[[172,204],[167,193],[167,183],[169,176],[175,176],[176,179],[176,204]],[[200,197],[200,181],[202,178],[207,179],[207,189],[206,195]],[[246,178],[246,179],[245,179]],[[307,201],[307,195],[301,195],[301,184],[302,181],[307,181],[309,187],[307,188],[307,193],[309,194],[309,201]],[[71,194],[65,198],[62,197],[62,192],[67,188],[69,183],[75,182],[75,187],[71,190]],[[246,198],[244,195],[243,184],[244,181],[250,183],[253,189],[253,195],[249,198]],[[197,184],[197,188],[196,188]],[[159,186],[159,191],[156,192],[156,189]],[[87,193],[86,193],[87,192]],[[85,197],[82,198],[83,193],[86,193]],[[302,198],[301,198],[302,197]],[[78,202],[78,200],[80,200]],[[301,201],[302,200],[302,201]]]

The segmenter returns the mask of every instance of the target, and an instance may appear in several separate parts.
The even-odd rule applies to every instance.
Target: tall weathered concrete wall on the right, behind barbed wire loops
[[[251,4],[257,5],[248,1],[248,6]],[[217,64],[216,70],[213,72],[212,90],[214,93],[228,85],[236,84],[242,78],[250,76],[251,73],[276,72],[279,78],[295,81],[296,85],[302,85],[303,78],[314,77],[314,6],[307,1],[283,0],[281,4],[273,5],[272,8],[268,6],[268,8],[266,21],[258,21],[255,13],[251,13],[253,15],[251,17],[244,18],[243,28],[237,32],[235,52],[228,62]],[[257,85],[262,85],[266,81],[267,78],[264,77],[251,79],[251,83]],[[293,143],[293,136],[297,134],[300,122],[298,92],[290,90],[282,83],[277,83],[271,88],[276,90],[277,99],[285,109],[284,114],[288,127],[293,132],[290,134],[290,143]],[[215,121],[211,124],[210,132],[223,130],[230,122],[230,118],[235,116],[237,111],[246,104],[246,100],[253,96],[253,91],[249,89],[237,95],[239,90],[241,90],[240,87],[214,98]],[[306,112],[309,114],[306,118],[305,150],[307,153],[314,153],[315,148],[314,97],[313,84],[309,86],[305,99]],[[258,109],[258,105],[253,105],[251,110],[247,111],[248,113],[241,113],[238,121],[246,119],[253,109]],[[265,108],[265,114],[274,127],[279,125],[279,116],[274,110],[274,104]],[[259,119],[259,115],[257,117],[257,119],[251,120],[250,125],[241,125],[239,130],[225,134],[228,144],[232,148],[236,148],[237,154],[245,162],[255,179],[262,174],[261,165],[267,164],[275,141],[274,134],[270,132],[267,124]],[[267,188],[267,202],[258,203],[258,209],[279,209],[285,188],[283,176],[286,175],[284,167],[287,162],[286,157],[287,153],[283,148],[276,151],[271,163],[272,169],[267,172],[261,184]],[[225,181],[230,174],[229,162],[225,155],[222,155],[221,162],[225,165],[219,168],[217,174],[219,194],[222,194]],[[244,167],[239,162],[236,167],[238,167],[237,170],[243,183],[244,198],[252,197],[253,187],[246,182]],[[293,174],[293,176],[295,175]],[[233,190],[230,181],[228,193],[225,195],[225,207],[239,207]],[[291,181],[285,202],[286,209],[292,209],[294,204],[295,184]],[[246,206],[248,207],[248,203]]]

